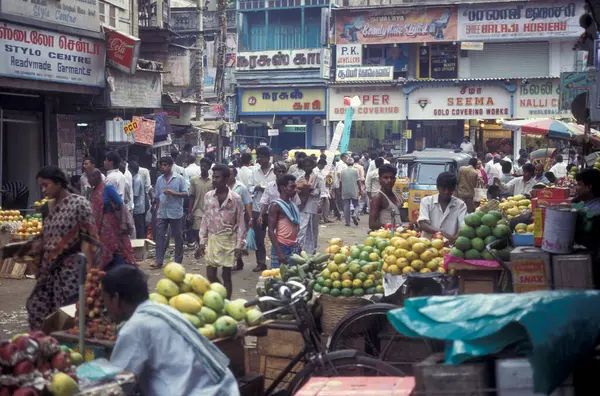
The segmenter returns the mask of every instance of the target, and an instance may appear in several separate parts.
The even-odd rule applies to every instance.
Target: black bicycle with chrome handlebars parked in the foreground
[[[304,300],[304,297],[307,295],[306,287],[294,281],[288,281],[273,287],[277,292],[278,298],[270,296],[259,297],[258,299],[248,301],[245,306],[248,308],[259,303],[271,303],[277,306],[277,308],[263,313],[263,316],[280,310],[291,311],[296,319],[297,331],[302,335],[304,340],[304,347],[275,378],[271,386],[266,390],[265,396],[293,395],[313,376],[403,376],[402,372],[393,366],[380,360],[363,356],[355,350],[327,351],[321,343],[315,319]],[[295,288],[296,291],[292,292],[292,288]],[[299,362],[304,363],[302,370],[294,376],[287,389],[277,390],[286,375]]]

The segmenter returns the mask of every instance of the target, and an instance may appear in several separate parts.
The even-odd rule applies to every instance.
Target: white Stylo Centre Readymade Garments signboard
[[[104,42],[12,23],[2,25],[0,76],[104,87]]]

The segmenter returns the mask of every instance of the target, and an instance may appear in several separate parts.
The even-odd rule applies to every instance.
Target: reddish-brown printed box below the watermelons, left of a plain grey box
[[[531,246],[519,246],[510,252],[513,291],[525,293],[550,290],[552,272],[550,254]]]

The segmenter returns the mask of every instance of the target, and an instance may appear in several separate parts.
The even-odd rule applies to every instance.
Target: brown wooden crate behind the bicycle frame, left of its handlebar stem
[[[265,388],[268,388],[273,383],[304,346],[302,335],[294,331],[293,327],[279,325],[267,327],[269,329],[268,335],[266,337],[258,337],[256,342],[256,350],[260,357],[259,373],[265,378]],[[283,379],[281,385],[287,385],[303,366],[303,363],[297,363],[292,371]]]

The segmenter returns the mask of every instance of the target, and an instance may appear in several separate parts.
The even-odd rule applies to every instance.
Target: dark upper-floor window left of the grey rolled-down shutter
[[[417,76],[421,79],[458,78],[458,45],[419,46]]]

